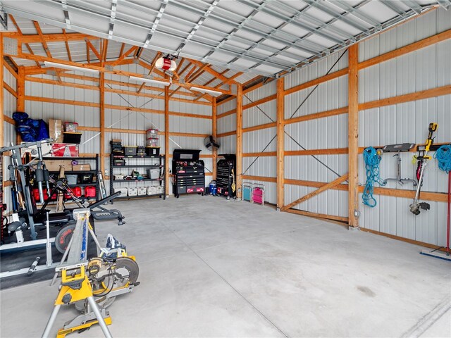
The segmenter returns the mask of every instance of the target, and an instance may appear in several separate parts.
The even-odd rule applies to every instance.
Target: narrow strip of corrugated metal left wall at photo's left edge
[[[11,87],[13,90],[16,90],[16,77],[13,77],[11,73],[9,73],[9,70],[4,67],[4,82],[8,84],[9,87]],[[13,117],[13,113],[16,111],[16,104],[17,99],[13,94],[8,92],[8,90],[4,89],[3,92],[4,97],[4,107],[3,107],[3,113],[4,115],[8,116],[9,118]],[[3,137],[4,146],[8,146],[11,144],[11,142],[16,143],[16,129],[14,125],[11,125],[10,123],[7,123],[4,121],[4,134],[0,137]],[[9,157],[4,156],[3,158],[3,181],[5,182],[8,180],[9,173],[8,173],[8,165],[9,165]],[[11,206],[11,187],[4,187],[4,201],[3,203],[6,204],[7,209],[6,211],[10,211]]]

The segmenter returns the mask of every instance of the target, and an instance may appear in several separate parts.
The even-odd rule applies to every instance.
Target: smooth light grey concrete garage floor
[[[451,264],[419,246],[211,196],[114,206],[127,224],[99,240],[127,245],[141,284],[109,308],[113,337],[451,337]],[[39,337],[57,292],[1,291],[1,337]]]

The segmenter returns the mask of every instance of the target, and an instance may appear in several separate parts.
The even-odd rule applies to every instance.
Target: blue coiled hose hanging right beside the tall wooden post
[[[366,206],[371,206],[371,208],[374,208],[377,202],[373,197],[373,184],[376,182],[379,185],[385,185],[387,182],[382,180],[379,175],[379,163],[381,163],[381,156],[372,146],[369,146],[364,150],[364,161],[366,169],[366,184],[362,199]]]

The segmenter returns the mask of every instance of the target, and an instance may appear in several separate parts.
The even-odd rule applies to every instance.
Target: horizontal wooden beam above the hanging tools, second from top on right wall
[[[388,97],[387,99],[381,99],[364,104],[359,104],[359,111],[365,111],[371,108],[380,108],[383,106],[392,106],[393,104],[404,104],[405,102],[417,101],[422,99],[429,99],[435,96],[443,96],[451,94],[451,84],[447,86],[421,90],[420,92],[414,92],[410,94],[404,94],[400,96]]]

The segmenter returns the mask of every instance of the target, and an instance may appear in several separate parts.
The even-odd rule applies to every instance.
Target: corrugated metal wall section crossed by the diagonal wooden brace
[[[324,58],[285,77],[285,89],[347,68],[347,51]],[[347,106],[347,76],[285,96],[285,119]],[[285,151],[347,147],[347,114],[285,126]],[[285,179],[330,182],[347,173],[347,155],[285,156]],[[314,187],[285,184],[285,204],[314,191]],[[293,208],[347,216],[347,192],[327,190]]]

